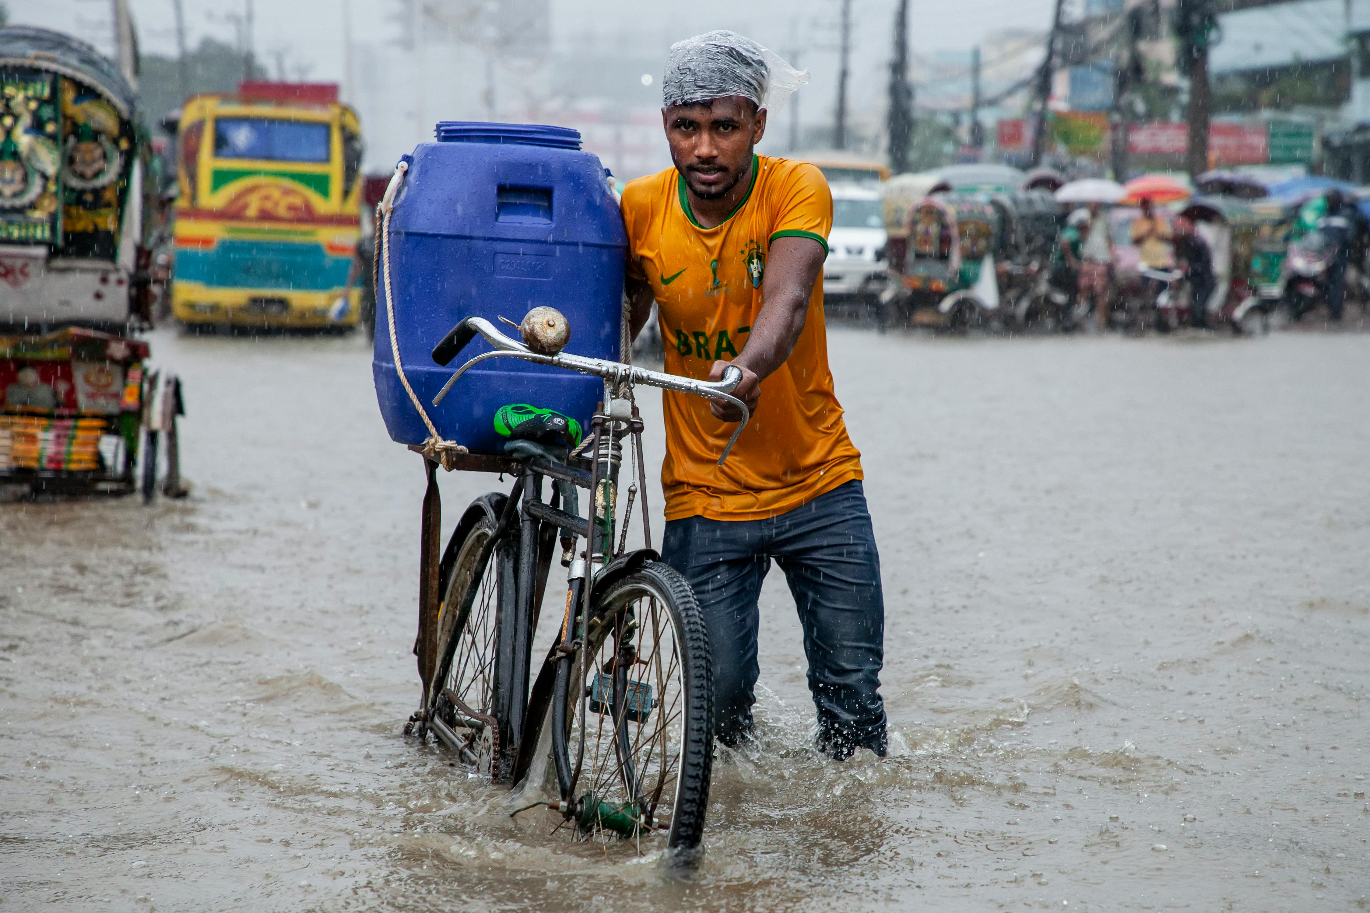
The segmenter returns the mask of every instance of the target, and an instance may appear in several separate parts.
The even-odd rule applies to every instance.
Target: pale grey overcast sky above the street
[[[111,0],[0,0],[10,8],[11,22],[42,25],[74,33],[95,45],[112,48]],[[182,0],[188,41],[212,36],[236,42],[234,21],[248,0]],[[1067,0],[1067,10],[1080,0]],[[144,52],[175,53],[173,0],[130,0]],[[775,129],[763,152],[789,149],[795,130],[825,130],[832,126],[837,97],[837,34],[840,0],[549,0],[553,53],[548,78],[567,99],[614,97],[614,104],[651,110],[660,103],[660,70],[673,41],[712,29],[732,29],[767,45],[811,81],[800,89],[789,111],[778,112]],[[415,142],[425,141],[437,119],[545,119],[590,127],[578,120],[556,119],[555,112],[538,115],[521,110],[521,89],[499,83],[495,96],[503,107],[493,112],[475,101],[485,81],[485,49],[470,45],[430,45],[422,52],[404,51],[399,0],[255,0],[253,48],[258,59],[275,75],[284,63],[288,79],[342,83],[344,100],[356,105],[367,136],[366,167],[385,170]],[[910,40],[914,55],[926,62],[938,53],[969,53],[988,33],[1032,30],[1044,33],[1051,25],[1054,0],[910,0]],[[886,81],[892,55],[895,0],[852,0],[852,56],[848,110],[854,137],[866,136],[880,144],[888,97]],[[347,42],[344,22],[351,22],[358,81],[344,77]],[[369,47],[370,45],[370,47]],[[988,52],[986,63],[993,59]],[[797,57],[797,59],[796,59]],[[1032,59],[1014,57],[1030,67]],[[614,67],[612,62],[621,62]],[[945,59],[943,64],[945,66]],[[960,67],[952,64],[954,70]],[[1012,64],[1011,64],[1012,66]],[[573,79],[597,67],[597,81],[575,85]],[[615,70],[618,70],[615,73]],[[362,82],[362,73],[370,74]],[[919,103],[938,107],[937,92],[969,96],[969,83],[947,77],[937,86],[919,90]],[[643,75],[652,75],[649,86]],[[510,78],[501,74],[497,79]],[[1004,75],[1012,79],[1011,75]],[[606,79],[610,86],[606,88]],[[593,82],[593,85],[592,85]],[[626,82],[626,90],[625,83]],[[995,88],[993,83],[989,86]],[[612,89],[612,90],[611,90]],[[460,94],[466,92],[464,101]],[[544,93],[545,94],[545,93]],[[945,104],[945,100],[944,100]],[[960,103],[955,103],[960,104]],[[641,134],[641,136],[638,136]],[[803,141],[801,141],[803,142]],[[860,145],[859,138],[854,142]],[[619,156],[621,144],[623,157]],[[647,159],[636,164],[632,148],[647,148]],[[666,167],[664,148],[658,148],[659,127],[625,136],[593,138],[586,148],[597,152],[619,174],[633,177]],[[856,148],[856,146],[854,146]],[[870,151],[870,149],[867,149]],[[655,156],[655,157],[653,157]]]

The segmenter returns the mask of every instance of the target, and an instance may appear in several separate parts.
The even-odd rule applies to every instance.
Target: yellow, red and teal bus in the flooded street
[[[349,327],[362,131],[337,86],[244,82],[177,125],[171,311],[185,324]]]

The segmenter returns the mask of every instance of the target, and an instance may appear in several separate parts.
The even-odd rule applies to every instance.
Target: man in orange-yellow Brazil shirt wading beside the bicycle
[[[885,606],[860,453],[833,391],[819,282],[833,222],[822,172],[758,156],[767,100],[806,77],[730,31],[671,47],[662,122],[674,168],[623,190],[636,335],[658,303],[666,370],[722,378],[751,424],[723,467],[736,411],[667,391],[666,539],[714,653],[714,728],[752,728],[762,579],[774,558],[799,609],[818,747],[885,754]]]

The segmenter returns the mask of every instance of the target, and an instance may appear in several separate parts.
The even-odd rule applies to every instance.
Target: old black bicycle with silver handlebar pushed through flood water
[[[538,312],[560,320],[559,345],[530,329]],[[467,370],[493,357],[597,375],[607,382],[607,397],[575,450],[536,439],[511,439],[506,453],[493,457],[412,448],[427,457],[429,487],[415,645],[423,698],[406,731],[423,739],[432,732],[466,764],[525,798],[555,795],[514,814],[544,806],[560,819],[555,830],[571,825],[578,839],[640,843],[664,834],[667,847],[688,850],[700,842],[708,806],[711,654],[693,591],[651,548],[644,424],[633,387],[692,393],[740,408],[743,420],[719,457],[722,465],[749,419],[747,407],[730,396],[741,371],[729,367],[722,381],[704,382],[566,355],[564,324],[551,308],[536,308],[521,326],[519,342],[473,316],[433,349],[433,360],[447,365],[477,334],[493,346],[466,361],[434,405]],[[636,479],[619,512],[625,441]],[[508,494],[471,502],[441,558],[438,464],[515,476]],[[544,501],[547,479],[552,489]],[[586,516],[578,509],[581,489],[593,493]],[[634,500],[641,501],[645,548],[627,550]],[[529,686],[556,538],[567,567],[566,608]]]

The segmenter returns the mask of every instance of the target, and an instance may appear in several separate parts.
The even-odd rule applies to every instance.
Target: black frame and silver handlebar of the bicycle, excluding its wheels
[[[492,689],[492,709],[495,719],[503,721],[497,734],[499,749],[492,758],[492,775],[496,779],[519,783],[527,779],[534,761],[541,754],[545,757],[548,747],[556,767],[556,779],[560,791],[559,802],[552,808],[563,816],[570,817],[577,813],[573,808],[575,799],[575,780],[584,758],[584,728],[581,745],[573,762],[571,746],[567,745],[570,725],[567,721],[567,708],[571,704],[573,667],[584,663],[586,624],[596,605],[596,597],[614,584],[618,579],[632,574],[647,561],[659,556],[652,549],[652,535],[649,511],[647,505],[647,468],[643,453],[643,420],[633,401],[633,386],[644,383],[682,393],[692,393],[708,398],[729,402],[738,408],[743,420],[733,433],[719,464],[727,459],[733,443],[741,434],[749,419],[749,411],[744,402],[732,396],[741,381],[741,371],[730,367],[725,371],[719,382],[695,381],[677,375],[645,371],[618,361],[601,359],[586,359],[581,356],[551,353],[544,355],[532,350],[529,346],[511,339],[496,330],[488,320],[481,318],[467,318],[456,324],[452,331],[433,350],[433,359],[438,364],[448,364],[474,337],[480,334],[492,346],[493,352],[485,352],[466,361],[453,372],[447,386],[434,398],[434,405],[447,396],[452,385],[474,364],[492,357],[519,357],[540,364],[551,364],[564,370],[592,374],[608,381],[607,402],[601,402],[590,420],[590,435],[577,453],[586,453],[589,470],[573,465],[569,457],[562,457],[553,448],[533,442],[511,442],[512,456],[500,457],[473,457],[463,454],[456,460],[444,459],[443,464],[452,463],[452,468],[482,468],[486,471],[511,471],[518,474],[514,489],[503,509],[496,526],[496,532],[485,545],[485,550],[478,556],[477,567],[486,567],[492,550],[499,548],[501,537],[510,524],[521,526],[519,546],[516,554],[497,554],[493,565],[500,575],[500,605],[495,639],[496,639],[496,678]],[[623,445],[632,450],[630,471],[633,483],[627,489],[627,501],[622,511],[618,505],[619,468],[623,459]],[[421,448],[412,448],[421,450]],[[574,456],[574,454],[570,454]],[[436,506],[434,457],[429,460],[430,493]],[[553,480],[551,501],[543,498],[544,479]],[[590,508],[581,516],[573,494],[578,489],[585,489],[590,494]],[[634,501],[641,498],[641,519],[644,546],[637,550],[626,550],[627,531],[632,522]],[[578,498],[577,498],[578,500]],[[489,515],[489,506],[475,506],[471,511],[481,511]],[[429,513],[429,498],[425,498],[425,515]],[[470,513],[463,517],[459,530],[470,519]],[[474,519],[471,519],[474,523]],[[432,528],[433,542],[427,542]],[[552,561],[552,539],[560,532],[562,563],[569,568],[569,587],[566,598],[566,612],[562,619],[560,631],[543,664],[532,687],[532,647],[537,631],[538,610],[543,601],[547,579]],[[425,519],[425,554],[432,556],[436,548],[437,523]],[[577,539],[585,539],[584,550],[577,556]],[[615,546],[616,541],[616,546]],[[448,558],[444,558],[448,563]],[[436,576],[443,572],[436,561],[429,561],[429,567]],[[437,597],[437,580],[429,587]],[[512,595],[507,595],[512,594]],[[432,598],[432,597],[430,597]],[[436,610],[433,613],[436,619]],[[436,643],[432,645],[436,650]],[[433,680],[437,673],[437,657],[426,665],[425,676],[425,710],[432,706],[430,697],[433,689],[440,682]],[[584,669],[581,669],[584,678]],[[622,683],[615,673],[615,705],[622,697]],[[580,695],[581,719],[584,719],[586,697]],[[421,712],[416,715],[421,727],[429,727],[433,732],[453,749],[459,749],[462,742],[440,717],[433,713]],[[551,724],[549,739],[544,739],[544,727]],[[486,724],[488,725],[488,724]],[[548,745],[549,742],[549,745]],[[545,769],[545,768],[544,768]],[[629,775],[630,776],[630,775]],[[634,803],[641,806],[641,803]],[[618,809],[616,812],[625,812]],[[599,814],[599,812],[596,812]],[[619,816],[622,817],[622,816]],[[653,823],[626,817],[627,827],[651,828]],[[612,827],[612,825],[606,825]]]

